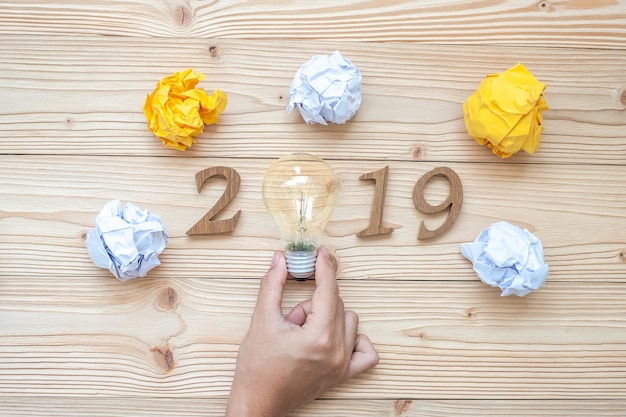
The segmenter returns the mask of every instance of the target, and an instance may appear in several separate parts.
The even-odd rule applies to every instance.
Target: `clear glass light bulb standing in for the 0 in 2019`
[[[315,272],[317,248],[337,196],[330,166],[317,156],[295,153],[273,162],[263,178],[263,202],[280,230],[287,271],[297,280]]]

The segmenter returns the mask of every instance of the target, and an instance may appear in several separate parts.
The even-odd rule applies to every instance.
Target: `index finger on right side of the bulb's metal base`
[[[335,262],[325,247],[320,247],[315,262],[315,292],[311,299],[311,312],[325,322],[337,317],[339,286]],[[341,308],[343,314],[343,307]]]

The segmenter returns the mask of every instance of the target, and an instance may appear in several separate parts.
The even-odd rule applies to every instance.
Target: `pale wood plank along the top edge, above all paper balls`
[[[624,48],[626,3],[436,0],[263,4],[93,3],[27,0],[0,4],[0,35],[108,35],[238,39],[337,39]]]

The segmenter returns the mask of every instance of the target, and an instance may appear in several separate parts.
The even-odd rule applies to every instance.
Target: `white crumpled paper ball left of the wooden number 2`
[[[102,208],[86,240],[94,264],[107,268],[121,281],[144,277],[160,265],[158,256],[166,243],[159,216],[132,203],[122,208],[119,200]]]

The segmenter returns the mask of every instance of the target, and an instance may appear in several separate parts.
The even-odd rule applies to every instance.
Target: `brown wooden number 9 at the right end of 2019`
[[[426,188],[428,181],[430,181],[435,175],[444,176],[448,179],[450,182],[450,192],[448,197],[441,204],[431,206],[424,199],[424,188]],[[419,211],[426,214],[440,213],[450,207],[448,217],[441,224],[441,226],[435,230],[428,230],[426,226],[424,226],[424,221],[422,220],[419,231],[417,232],[418,239],[429,239],[440,235],[452,227],[456,218],[459,216],[459,213],[461,213],[461,207],[463,207],[463,186],[461,185],[461,179],[457,173],[450,168],[437,167],[424,174],[417,181],[415,188],[413,189],[413,203]]]

